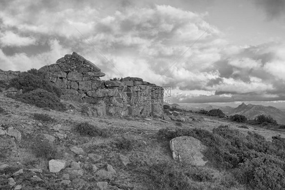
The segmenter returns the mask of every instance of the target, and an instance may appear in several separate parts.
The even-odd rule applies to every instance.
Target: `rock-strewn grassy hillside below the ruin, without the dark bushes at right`
[[[195,143],[191,145],[196,146],[182,154],[182,150],[178,153],[172,149],[178,142],[171,141],[171,148],[169,140],[158,138],[158,134],[165,129],[197,128],[211,132],[228,125],[242,134],[256,132],[267,140],[276,135],[285,137],[281,130],[239,128],[240,124],[225,118],[171,107],[164,110],[162,118],[96,118],[88,117],[80,108],[39,108],[7,98],[3,93],[0,105],[3,190],[247,189],[229,171],[213,169],[210,162],[194,162],[199,163],[197,166],[180,164],[185,155],[192,155],[195,161],[197,155],[201,157],[200,152],[196,154],[205,148],[201,142],[192,138]],[[182,148],[183,144],[178,146]]]

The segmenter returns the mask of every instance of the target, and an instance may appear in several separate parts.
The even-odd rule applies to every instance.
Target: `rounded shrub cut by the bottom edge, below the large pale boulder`
[[[157,190],[192,189],[188,177],[172,163],[154,164],[149,169],[152,188]]]

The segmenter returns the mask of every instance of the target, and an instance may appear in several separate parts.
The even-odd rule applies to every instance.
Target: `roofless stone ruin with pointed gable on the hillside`
[[[163,88],[136,77],[101,81],[105,75],[101,69],[76,52],[39,70],[47,72],[51,83],[62,90],[61,99],[85,105],[88,115],[147,117],[162,113]]]

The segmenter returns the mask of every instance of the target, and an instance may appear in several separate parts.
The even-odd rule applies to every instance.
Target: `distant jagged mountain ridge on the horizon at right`
[[[220,109],[228,116],[239,114],[251,120],[262,114],[266,116],[270,115],[277,121],[278,124],[285,124],[285,112],[273,106],[263,106],[254,104],[246,105],[245,103],[242,103],[236,108],[225,106],[220,107]]]

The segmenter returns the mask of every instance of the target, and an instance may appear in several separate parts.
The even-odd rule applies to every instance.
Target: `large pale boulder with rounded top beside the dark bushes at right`
[[[206,146],[194,137],[182,136],[173,138],[170,140],[170,149],[175,161],[194,166],[204,166],[207,163],[207,161],[203,160],[204,156],[202,154]]]

